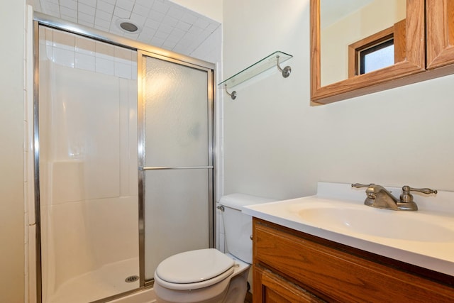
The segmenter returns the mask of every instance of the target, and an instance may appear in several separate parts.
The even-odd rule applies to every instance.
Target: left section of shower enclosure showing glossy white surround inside
[[[135,290],[137,52],[45,26],[38,34],[38,302]]]

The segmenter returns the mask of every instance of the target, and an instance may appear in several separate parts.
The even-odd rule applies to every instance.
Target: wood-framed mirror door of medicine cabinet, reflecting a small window
[[[424,0],[311,0],[311,100],[398,86],[423,72],[424,48]]]

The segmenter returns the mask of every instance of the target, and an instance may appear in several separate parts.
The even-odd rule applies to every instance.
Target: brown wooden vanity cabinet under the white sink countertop
[[[454,277],[254,218],[253,302],[454,302]]]

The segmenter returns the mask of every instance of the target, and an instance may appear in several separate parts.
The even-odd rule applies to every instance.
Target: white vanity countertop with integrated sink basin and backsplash
[[[386,188],[399,197],[400,188]],[[365,189],[355,189],[350,184],[319,182],[315,196],[245,206],[243,212],[313,236],[454,276],[454,192],[414,194],[419,211],[376,209],[365,206],[364,199]],[[316,220],[301,216],[309,214],[304,211],[328,208],[334,210],[333,214],[337,211],[341,215],[360,214],[350,216],[355,221],[355,228],[350,226],[349,219],[344,223],[343,218],[333,216],[315,217]],[[360,216],[364,216],[364,222]],[[374,222],[375,218],[377,222]],[[410,227],[416,222],[415,232],[405,230],[408,227],[405,224],[401,227],[401,220],[408,221]],[[422,222],[421,226],[417,225],[418,222]],[[358,228],[358,224],[365,224],[365,228]],[[424,224],[436,227],[436,232],[431,234],[429,228],[426,232]],[[386,228],[391,229],[387,231]]]

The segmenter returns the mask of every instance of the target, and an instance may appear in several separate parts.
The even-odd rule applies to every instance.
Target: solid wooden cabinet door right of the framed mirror
[[[454,63],[454,0],[426,0],[427,69]]]

